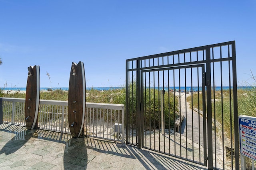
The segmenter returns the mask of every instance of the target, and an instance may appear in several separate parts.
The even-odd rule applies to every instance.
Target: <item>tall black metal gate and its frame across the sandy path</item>
[[[235,41],[126,60],[126,144],[238,169]]]

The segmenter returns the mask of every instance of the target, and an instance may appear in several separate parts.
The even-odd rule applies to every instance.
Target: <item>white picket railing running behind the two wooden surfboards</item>
[[[4,123],[25,126],[25,99],[3,98],[2,109]],[[68,102],[40,100],[38,127],[70,133]],[[87,102],[84,133],[87,136],[121,140],[124,143],[124,105]]]

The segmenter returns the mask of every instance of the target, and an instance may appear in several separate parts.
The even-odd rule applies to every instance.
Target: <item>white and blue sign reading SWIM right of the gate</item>
[[[256,160],[256,117],[240,115],[240,152],[244,156]]]

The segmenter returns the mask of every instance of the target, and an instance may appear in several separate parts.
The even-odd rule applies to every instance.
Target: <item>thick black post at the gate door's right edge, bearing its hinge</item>
[[[213,169],[212,155],[212,84],[211,84],[211,54],[206,48],[206,96],[207,96],[207,135],[208,135],[208,169]]]

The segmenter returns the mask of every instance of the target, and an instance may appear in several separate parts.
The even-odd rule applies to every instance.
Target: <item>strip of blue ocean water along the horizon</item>
[[[100,91],[104,91],[104,90],[115,90],[115,89],[122,89],[122,88],[125,88],[125,87],[88,87],[86,88],[86,90],[91,90],[91,89],[94,89],[94,90],[100,90]],[[146,88],[149,88],[149,87],[146,87]],[[150,88],[154,88],[154,87],[150,87]],[[216,86],[216,87],[212,87],[212,89],[215,89],[216,91],[219,91],[221,90],[221,87],[220,86]],[[231,87],[232,89],[233,87]],[[250,90],[252,88],[255,88],[255,87],[252,87],[252,86],[238,86],[237,89],[242,89],[242,90]],[[2,90],[26,90],[26,88],[24,87],[8,87],[8,88],[0,88]],[[40,90],[42,91],[47,91],[49,88],[47,87],[41,87]],[[52,90],[68,90],[68,87],[54,87],[54,88],[51,88]],[[185,86],[181,86],[181,87],[155,87],[155,89],[159,89],[159,90],[181,90],[181,91],[194,91],[194,92],[197,92],[197,91],[202,91],[202,87],[185,87]],[[229,86],[222,86],[222,89],[223,90],[229,90]]]

